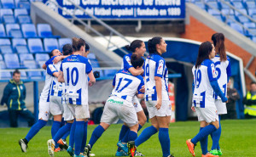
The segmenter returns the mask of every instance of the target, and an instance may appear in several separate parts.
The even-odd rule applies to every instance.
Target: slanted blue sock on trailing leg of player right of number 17
[[[143,130],[141,135],[137,137],[137,139],[135,140],[135,145],[139,146],[141,143],[144,143],[145,141],[148,140],[149,137],[154,135],[156,132],[157,132],[157,129],[154,126],[148,126]]]

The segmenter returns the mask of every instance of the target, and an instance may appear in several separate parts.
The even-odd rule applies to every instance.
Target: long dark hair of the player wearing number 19
[[[212,43],[211,42],[202,42],[199,50],[197,59],[195,62],[195,68],[200,67],[201,63],[205,59],[209,59],[209,54],[212,52]]]

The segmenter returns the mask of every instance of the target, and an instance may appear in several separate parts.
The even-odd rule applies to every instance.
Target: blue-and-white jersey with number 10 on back
[[[88,105],[88,74],[92,70],[88,59],[81,55],[70,55],[61,63],[67,104]]]

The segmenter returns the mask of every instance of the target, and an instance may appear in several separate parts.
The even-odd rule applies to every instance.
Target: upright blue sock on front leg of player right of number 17
[[[161,144],[163,156],[167,157],[170,155],[170,137],[169,137],[169,129],[168,128],[160,128],[158,133],[158,138]]]

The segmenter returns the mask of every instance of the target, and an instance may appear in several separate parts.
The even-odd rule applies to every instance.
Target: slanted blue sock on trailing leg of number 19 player
[[[198,143],[201,141],[204,137],[207,137],[212,132],[215,132],[217,129],[215,126],[210,124],[209,126],[205,126],[203,129],[201,129],[201,132],[197,133],[194,138],[191,139],[191,143]]]

